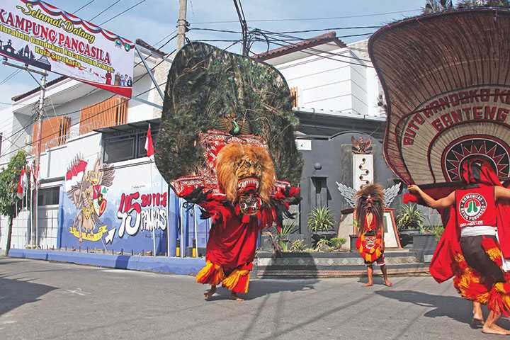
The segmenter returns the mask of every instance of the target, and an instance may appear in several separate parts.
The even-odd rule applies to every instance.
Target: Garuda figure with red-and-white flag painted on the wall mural
[[[77,216],[69,229],[79,242],[98,241],[105,232],[106,225],[101,225],[101,215],[106,210],[106,193],[113,184],[115,170],[112,166],[101,163],[97,158],[92,169],[87,170],[87,162],[76,157],[66,173],[67,196],[77,208]]]

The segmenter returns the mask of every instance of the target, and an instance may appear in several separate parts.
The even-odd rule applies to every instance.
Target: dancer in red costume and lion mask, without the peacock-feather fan
[[[222,284],[232,300],[248,293],[256,241],[261,229],[273,222],[281,225],[281,214],[298,202],[299,189],[276,188],[273,161],[263,147],[233,143],[217,155],[216,173],[220,194],[197,188],[183,197],[212,217],[205,254],[206,265],[197,274],[198,283],[211,285],[205,299]]]

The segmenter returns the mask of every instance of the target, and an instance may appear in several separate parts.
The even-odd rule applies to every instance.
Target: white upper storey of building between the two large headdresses
[[[300,110],[380,116],[382,89],[368,40],[346,45],[334,32],[256,56],[283,74]]]

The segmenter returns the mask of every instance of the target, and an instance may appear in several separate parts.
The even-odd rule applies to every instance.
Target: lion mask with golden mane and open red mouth
[[[269,203],[275,169],[267,149],[239,143],[225,145],[217,154],[216,173],[218,186],[232,205],[240,200],[245,208],[253,208],[254,200]]]

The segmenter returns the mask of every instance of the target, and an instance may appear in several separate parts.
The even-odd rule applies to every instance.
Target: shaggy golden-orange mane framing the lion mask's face
[[[259,196],[263,203],[269,203],[271,191],[275,182],[275,169],[273,159],[264,147],[232,143],[222,147],[216,159],[216,174],[220,190],[225,193],[232,205],[237,201],[237,186],[239,179],[236,176],[236,166],[242,157],[248,157],[261,166],[261,179]]]

